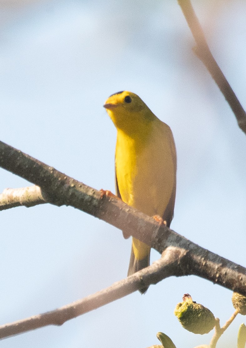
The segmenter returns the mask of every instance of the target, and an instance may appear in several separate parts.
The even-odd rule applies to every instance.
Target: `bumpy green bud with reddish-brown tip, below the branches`
[[[174,314],[184,329],[200,335],[210,332],[215,325],[213,313],[202,304],[193,302],[189,294],[183,296],[183,302],[177,304]]]

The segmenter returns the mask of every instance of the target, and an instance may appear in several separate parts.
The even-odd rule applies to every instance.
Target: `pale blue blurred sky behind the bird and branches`
[[[246,108],[246,2],[193,1],[208,44]],[[171,228],[246,266],[246,137],[192,53],[177,1],[0,1],[0,140],[96,189],[114,189],[116,130],[103,108],[128,89],[172,129],[178,156]],[[0,192],[30,185],[0,169]],[[71,207],[0,213],[0,313],[43,313],[126,276],[131,240]],[[151,262],[160,255],[152,251]],[[189,276],[163,280],[66,322],[1,341],[3,348],[179,348],[210,342],[173,311],[184,293],[223,325],[232,292]],[[218,348],[236,347],[238,316]]]

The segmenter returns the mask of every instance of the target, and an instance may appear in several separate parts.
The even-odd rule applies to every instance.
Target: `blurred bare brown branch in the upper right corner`
[[[220,88],[233,113],[235,114],[238,126],[246,134],[246,113],[235,93],[233,92],[231,86],[229,85],[227,79],[224,77],[224,74],[220,70],[219,65],[216,63],[210,49],[208,48],[202,27],[200,26],[190,0],[178,0],[178,3],[182,9],[182,12],[197,44],[194,52],[210,72],[212,78]]]

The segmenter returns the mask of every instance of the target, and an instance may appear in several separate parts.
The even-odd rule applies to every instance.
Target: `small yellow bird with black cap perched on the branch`
[[[117,197],[142,213],[158,216],[170,227],[177,169],[170,127],[159,120],[137,94],[126,90],[110,95],[104,108],[117,129]],[[128,276],[149,266],[149,258],[150,246],[132,237]],[[144,287],[140,292],[145,293],[147,289]]]

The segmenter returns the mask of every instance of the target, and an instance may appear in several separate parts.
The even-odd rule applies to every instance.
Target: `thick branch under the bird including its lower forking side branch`
[[[192,243],[159,225],[153,218],[121,200],[103,196],[81,182],[0,142],[0,165],[41,187],[41,199],[56,205],[71,205],[124,230],[160,253],[161,260],[111,287],[58,310],[3,325],[0,337],[15,335],[44,325],[61,325],[68,319],[156,284],[169,276],[198,275],[246,295],[246,269]],[[36,189],[35,189],[36,190]],[[34,190],[34,191],[35,191]],[[31,189],[30,189],[31,191]]]

